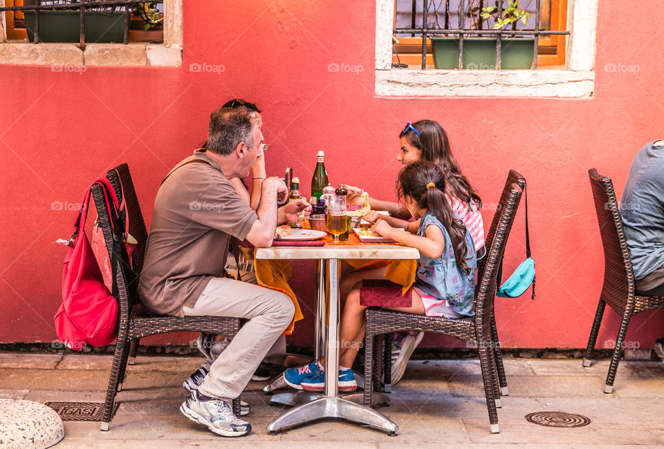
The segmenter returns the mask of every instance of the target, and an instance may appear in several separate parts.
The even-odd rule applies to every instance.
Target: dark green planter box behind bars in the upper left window
[[[35,11],[25,11],[28,39],[35,40]],[[124,11],[89,11],[85,13],[85,41],[124,42]],[[80,12],[40,11],[40,42],[80,41]]]

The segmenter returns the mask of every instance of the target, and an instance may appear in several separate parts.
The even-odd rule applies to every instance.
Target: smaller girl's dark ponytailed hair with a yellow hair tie
[[[435,187],[427,189],[427,184],[433,182]],[[405,166],[399,173],[396,189],[399,198],[405,196],[413,198],[418,207],[427,209],[438,218],[450,234],[454,259],[466,274],[470,273],[470,267],[465,262],[468,248],[465,245],[465,225],[459,218],[454,217],[454,211],[450,208],[445,198],[445,175],[438,164],[418,160]]]

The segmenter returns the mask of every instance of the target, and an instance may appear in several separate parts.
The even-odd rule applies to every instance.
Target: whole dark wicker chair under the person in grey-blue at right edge
[[[590,169],[588,174],[593,189],[593,198],[595,199],[602,246],[604,247],[604,285],[602,285],[602,294],[597,305],[595,321],[593,321],[590,338],[588,338],[583,366],[589,367],[591,364],[593,347],[595,347],[597,341],[602,315],[604,314],[605,305],[608,304],[611,309],[614,309],[618,315],[623,317],[620,321],[616,346],[611,357],[611,365],[609,365],[607,384],[604,388],[605,393],[611,393],[614,388],[616,371],[618,371],[620,354],[623,352],[623,342],[625,341],[629,318],[646,310],[664,307],[664,297],[643,296],[636,293],[634,271],[631,268],[629,249],[627,248],[625,231],[623,231],[623,221],[620,219],[620,212],[618,211],[614,185],[611,178],[600,175],[596,169]]]

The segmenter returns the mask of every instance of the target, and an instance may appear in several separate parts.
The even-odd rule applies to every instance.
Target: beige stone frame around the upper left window
[[[5,5],[0,0],[0,7]],[[7,41],[5,15],[0,14],[0,64],[76,66],[182,66],[182,0],[164,0],[164,43],[32,44]]]

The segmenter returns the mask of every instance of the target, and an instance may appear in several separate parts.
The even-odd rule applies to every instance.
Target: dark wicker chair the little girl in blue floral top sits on
[[[475,289],[475,315],[467,318],[450,319],[434,316],[403,314],[381,309],[367,309],[367,325],[365,335],[365,383],[371,379],[374,370],[374,338],[392,332],[421,331],[445,334],[477,345],[479,361],[484,381],[484,394],[491,424],[491,432],[498,433],[497,401],[500,400],[497,366],[493,348],[492,330],[493,299],[496,291],[498,265],[505,251],[505,244],[514,221],[522,188],[511,184],[510,189],[501,198],[501,207],[496,211],[498,219],[494,219],[495,231],[486,261],[479,272],[479,281]],[[492,225],[492,229],[494,225]],[[380,367],[380,364],[377,364]],[[380,378],[380,374],[378,375]],[[371,405],[371,385],[365,385],[364,403]]]

